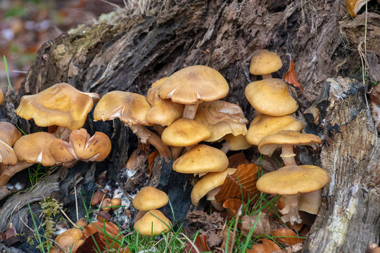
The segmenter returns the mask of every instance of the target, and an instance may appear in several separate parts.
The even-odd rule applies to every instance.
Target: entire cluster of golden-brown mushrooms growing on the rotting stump
[[[272,155],[274,150],[282,148],[285,167],[260,177],[257,188],[263,193],[283,195],[285,206],[280,210],[281,218],[300,223],[298,209],[317,213],[320,189],[327,183],[328,176],[319,167],[296,164],[293,145],[320,143],[320,139],[312,134],[300,134],[305,124],[291,116],[298,110],[296,100],[286,84],[271,75],[281,66],[276,53],[258,50],[253,54],[250,72],[262,75],[262,80],[246,86],[246,98],[258,112],[249,130],[246,128],[248,120],[239,105],[220,100],[229,91],[227,81],[222,74],[203,65],[185,67],[158,80],[146,96],[110,91],[100,98],[96,93],[77,91],[66,83],[23,96],[16,114],[34,119],[38,126],[49,126],[53,134],[41,132],[21,136],[15,126],[0,122],[0,186],[6,185],[13,174],[36,162],[48,167],[53,164],[70,167],[77,160],[104,160],[110,153],[108,136],[96,132],[90,137],[82,129],[87,114],[100,98],[94,109],[96,121],[119,118],[141,143],[150,143],[163,157],[174,158],[175,171],[201,176],[191,192],[194,205],[198,205],[205,195],[208,200],[215,200],[213,196],[218,187],[228,174],[236,171],[228,168],[225,155],[228,150],[258,145],[260,153]],[[201,141],[223,144],[217,149],[198,144]],[[156,196],[159,192],[155,190],[143,188],[133,202],[136,209],[146,212],[135,224],[141,234],[153,233],[151,226],[143,232],[144,228],[139,226],[142,221],[165,221],[154,225],[160,227],[158,231],[154,228],[154,234],[171,227],[170,221],[156,210],[159,206],[141,207],[141,203],[149,201],[139,200],[140,195]],[[160,207],[167,203],[167,196],[153,198],[166,201],[160,203]]]

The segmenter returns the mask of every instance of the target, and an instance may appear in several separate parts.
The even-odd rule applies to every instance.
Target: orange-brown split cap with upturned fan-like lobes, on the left
[[[56,139],[51,143],[49,150],[57,162],[101,162],[109,155],[111,143],[110,138],[102,132],[96,131],[90,137],[86,129],[77,129],[70,133],[69,142]]]

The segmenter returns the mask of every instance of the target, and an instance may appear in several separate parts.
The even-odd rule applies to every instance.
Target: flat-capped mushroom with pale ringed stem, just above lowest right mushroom
[[[297,165],[293,152],[294,145],[310,145],[321,143],[321,139],[314,134],[301,134],[297,131],[282,130],[275,134],[270,134],[261,139],[258,150],[262,155],[272,155],[274,150],[282,148],[281,158],[285,165]]]

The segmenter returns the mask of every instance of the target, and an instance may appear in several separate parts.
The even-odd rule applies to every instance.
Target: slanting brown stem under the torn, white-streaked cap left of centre
[[[172,157],[172,153],[170,152],[170,149],[163,143],[161,138],[157,135],[154,134],[153,131],[150,131],[146,129],[142,125],[132,125],[132,124],[126,124],[129,129],[132,130],[134,134],[139,137],[141,143],[149,143],[153,145],[157,150],[160,155],[163,157]]]

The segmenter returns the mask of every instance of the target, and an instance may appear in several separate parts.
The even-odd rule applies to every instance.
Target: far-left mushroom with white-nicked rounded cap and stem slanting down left
[[[5,166],[0,164],[0,186],[5,186],[11,177],[30,167],[34,163],[40,163],[45,167],[56,164],[56,160],[49,152],[49,145],[56,140],[53,134],[37,132],[22,136],[13,145],[13,150],[18,157],[17,164]]]

